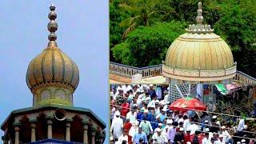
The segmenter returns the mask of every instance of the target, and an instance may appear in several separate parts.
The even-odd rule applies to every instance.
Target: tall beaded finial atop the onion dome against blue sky
[[[49,46],[57,46],[57,35],[55,34],[55,31],[58,30],[58,23],[55,22],[55,19],[57,18],[57,14],[55,13],[55,6],[54,4],[50,5],[50,13],[48,14],[48,18],[50,19],[50,22],[48,22],[47,29],[50,31],[50,34],[48,35],[48,39],[50,42],[48,42]]]

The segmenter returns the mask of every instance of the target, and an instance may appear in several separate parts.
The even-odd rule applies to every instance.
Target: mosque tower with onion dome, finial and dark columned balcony
[[[13,110],[2,123],[4,144],[103,143],[106,124],[90,109],[75,107],[73,94],[79,82],[78,66],[58,47],[57,14],[50,6],[48,46],[33,58],[26,84],[33,106]]]

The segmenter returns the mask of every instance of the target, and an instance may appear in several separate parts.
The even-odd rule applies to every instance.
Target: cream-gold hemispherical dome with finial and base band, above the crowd
[[[197,25],[190,25],[170,45],[162,66],[166,78],[196,82],[222,82],[234,77],[236,66],[230,47],[210,25],[202,24],[202,3],[198,2]]]

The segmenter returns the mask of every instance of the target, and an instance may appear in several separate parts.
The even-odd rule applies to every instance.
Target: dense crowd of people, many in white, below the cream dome
[[[232,123],[206,111],[170,110],[168,90],[160,85],[111,85],[110,142],[254,144],[256,131],[246,118]]]

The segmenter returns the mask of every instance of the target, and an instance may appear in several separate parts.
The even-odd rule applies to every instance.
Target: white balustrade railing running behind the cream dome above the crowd
[[[110,74],[117,74],[126,78],[132,78],[134,74],[142,74],[142,78],[148,78],[154,75],[162,75],[162,64],[139,68],[110,62]],[[234,82],[256,84],[256,78],[237,70]]]

